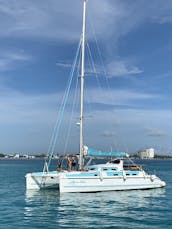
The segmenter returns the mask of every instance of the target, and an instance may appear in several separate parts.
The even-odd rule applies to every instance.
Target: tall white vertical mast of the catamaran
[[[82,59],[81,59],[81,105],[80,105],[80,157],[79,169],[83,167],[83,119],[84,119],[84,74],[85,74],[85,27],[86,27],[86,2],[83,0],[83,24],[82,24]]]

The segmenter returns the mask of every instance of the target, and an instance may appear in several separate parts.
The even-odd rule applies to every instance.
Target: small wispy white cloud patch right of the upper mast
[[[113,61],[107,66],[108,75],[113,76],[127,76],[143,73],[143,70],[136,66],[130,65],[125,61]]]

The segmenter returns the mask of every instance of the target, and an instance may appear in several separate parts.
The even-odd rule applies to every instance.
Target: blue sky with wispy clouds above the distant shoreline
[[[0,153],[48,151],[81,36],[82,3],[0,0]],[[172,154],[171,12],[171,0],[88,0],[85,145]],[[58,153],[79,149],[73,100]]]

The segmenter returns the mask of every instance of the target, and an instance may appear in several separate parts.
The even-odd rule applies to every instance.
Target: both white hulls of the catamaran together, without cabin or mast
[[[84,176],[84,177],[83,177]],[[165,182],[155,175],[135,177],[94,176],[89,172],[28,173],[27,189],[59,189],[60,192],[100,192],[117,190],[151,189],[164,187]]]

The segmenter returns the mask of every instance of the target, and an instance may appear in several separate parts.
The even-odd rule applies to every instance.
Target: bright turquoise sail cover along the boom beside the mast
[[[93,157],[129,157],[125,152],[101,152],[84,146],[84,155]]]

